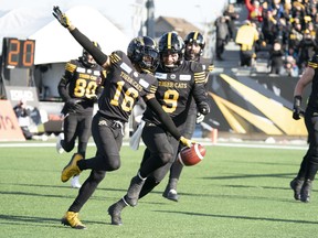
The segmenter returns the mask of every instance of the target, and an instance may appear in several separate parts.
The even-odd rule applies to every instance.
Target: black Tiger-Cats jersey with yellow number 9
[[[169,73],[159,66],[155,76],[158,79],[156,98],[177,127],[184,123],[192,96],[195,102],[206,101],[205,72],[200,63],[183,61],[176,71]],[[144,113],[144,120],[160,125],[149,108]]]

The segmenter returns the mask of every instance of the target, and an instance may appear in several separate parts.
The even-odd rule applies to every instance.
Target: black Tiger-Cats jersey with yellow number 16
[[[150,74],[140,74],[132,66],[128,56],[116,51],[109,55],[112,69],[107,77],[99,99],[99,112],[114,120],[128,121],[135,104],[147,94],[155,94],[158,82]]]

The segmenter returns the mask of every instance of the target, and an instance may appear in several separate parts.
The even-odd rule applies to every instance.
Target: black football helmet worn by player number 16
[[[157,43],[149,36],[138,36],[130,41],[127,56],[145,73],[153,73],[159,65]]]

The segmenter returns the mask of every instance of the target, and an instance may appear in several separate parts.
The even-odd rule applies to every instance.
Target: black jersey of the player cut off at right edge
[[[308,67],[315,69],[315,75],[311,84],[311,94],[308,100],[308,107],[318,110],[318,55],[315,55],[309,62]]]

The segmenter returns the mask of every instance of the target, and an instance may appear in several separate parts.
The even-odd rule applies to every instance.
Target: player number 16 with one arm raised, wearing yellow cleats
[[[132,39],[128,45],[127,55],[115,51],[109,56],[92,44],[83,33],[71,24],[68,18],[59,7],[53,8],[53,15],[67,28],[73,37],[94,57],[96,63],[107,71],[103,78],[104,90],[98,98],[98,111],[93,118],[92,134],[97,147],[96,155],[83,160],[75,154],[62,171],[61,180],[66,182],[83,170],[92,170],[82,185],[77,197],[71,205],[62,224],[76,229],[85,229],[78,219],[78,212],[92,196],[106,171],[116,171],[120,166],[119,150],[123,143],[123,127],[128,121],[137,100],[142,98],[147,108],[152,109],[165,128],[183,144],[190,147],[192,141],[181,137],[173,121],[156,100],[155,93],[158,82],[153,72],[159,63],[157,43],[148,36]]]

